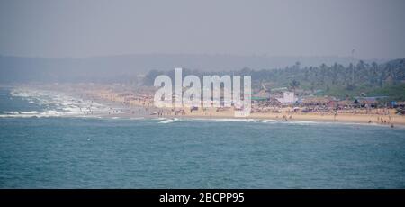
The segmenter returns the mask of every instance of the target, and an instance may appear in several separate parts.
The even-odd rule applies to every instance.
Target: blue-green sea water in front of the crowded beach
[[[0,94],[0,188],[405,187],[404,128],[20,117]]]

